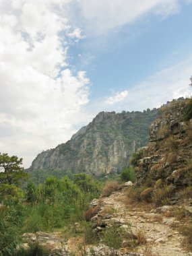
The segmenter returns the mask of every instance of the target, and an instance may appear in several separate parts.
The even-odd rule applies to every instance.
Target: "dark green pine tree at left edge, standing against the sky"
[[[24,172],[21,164],[22,158],[0,153],[0,184],[18,185],[20,180],[27,179],[28,174]]]

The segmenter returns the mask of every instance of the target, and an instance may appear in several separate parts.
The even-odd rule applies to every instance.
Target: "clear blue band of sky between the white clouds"
[[[86,36],[71,47],[71,65],[86,69],[92,83],[90,100],[129,90],[146,77],[190,57],[191,11],[190,3],[182,3],[177,13],[166,18],[149,13],[104,38]]]

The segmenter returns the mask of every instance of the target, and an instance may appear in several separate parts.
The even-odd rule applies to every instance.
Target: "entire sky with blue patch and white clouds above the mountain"
[[[192,0],[0,0],[0,152],[55,148],[100,111],[192,88]]]

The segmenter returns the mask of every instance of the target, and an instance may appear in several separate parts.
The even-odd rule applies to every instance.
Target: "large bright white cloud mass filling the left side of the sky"
[[[67,2],[0,2],[0,148],[26,167],[89,119],[89,79],[67,67],[67,40],[81,37],[65,18]]]

